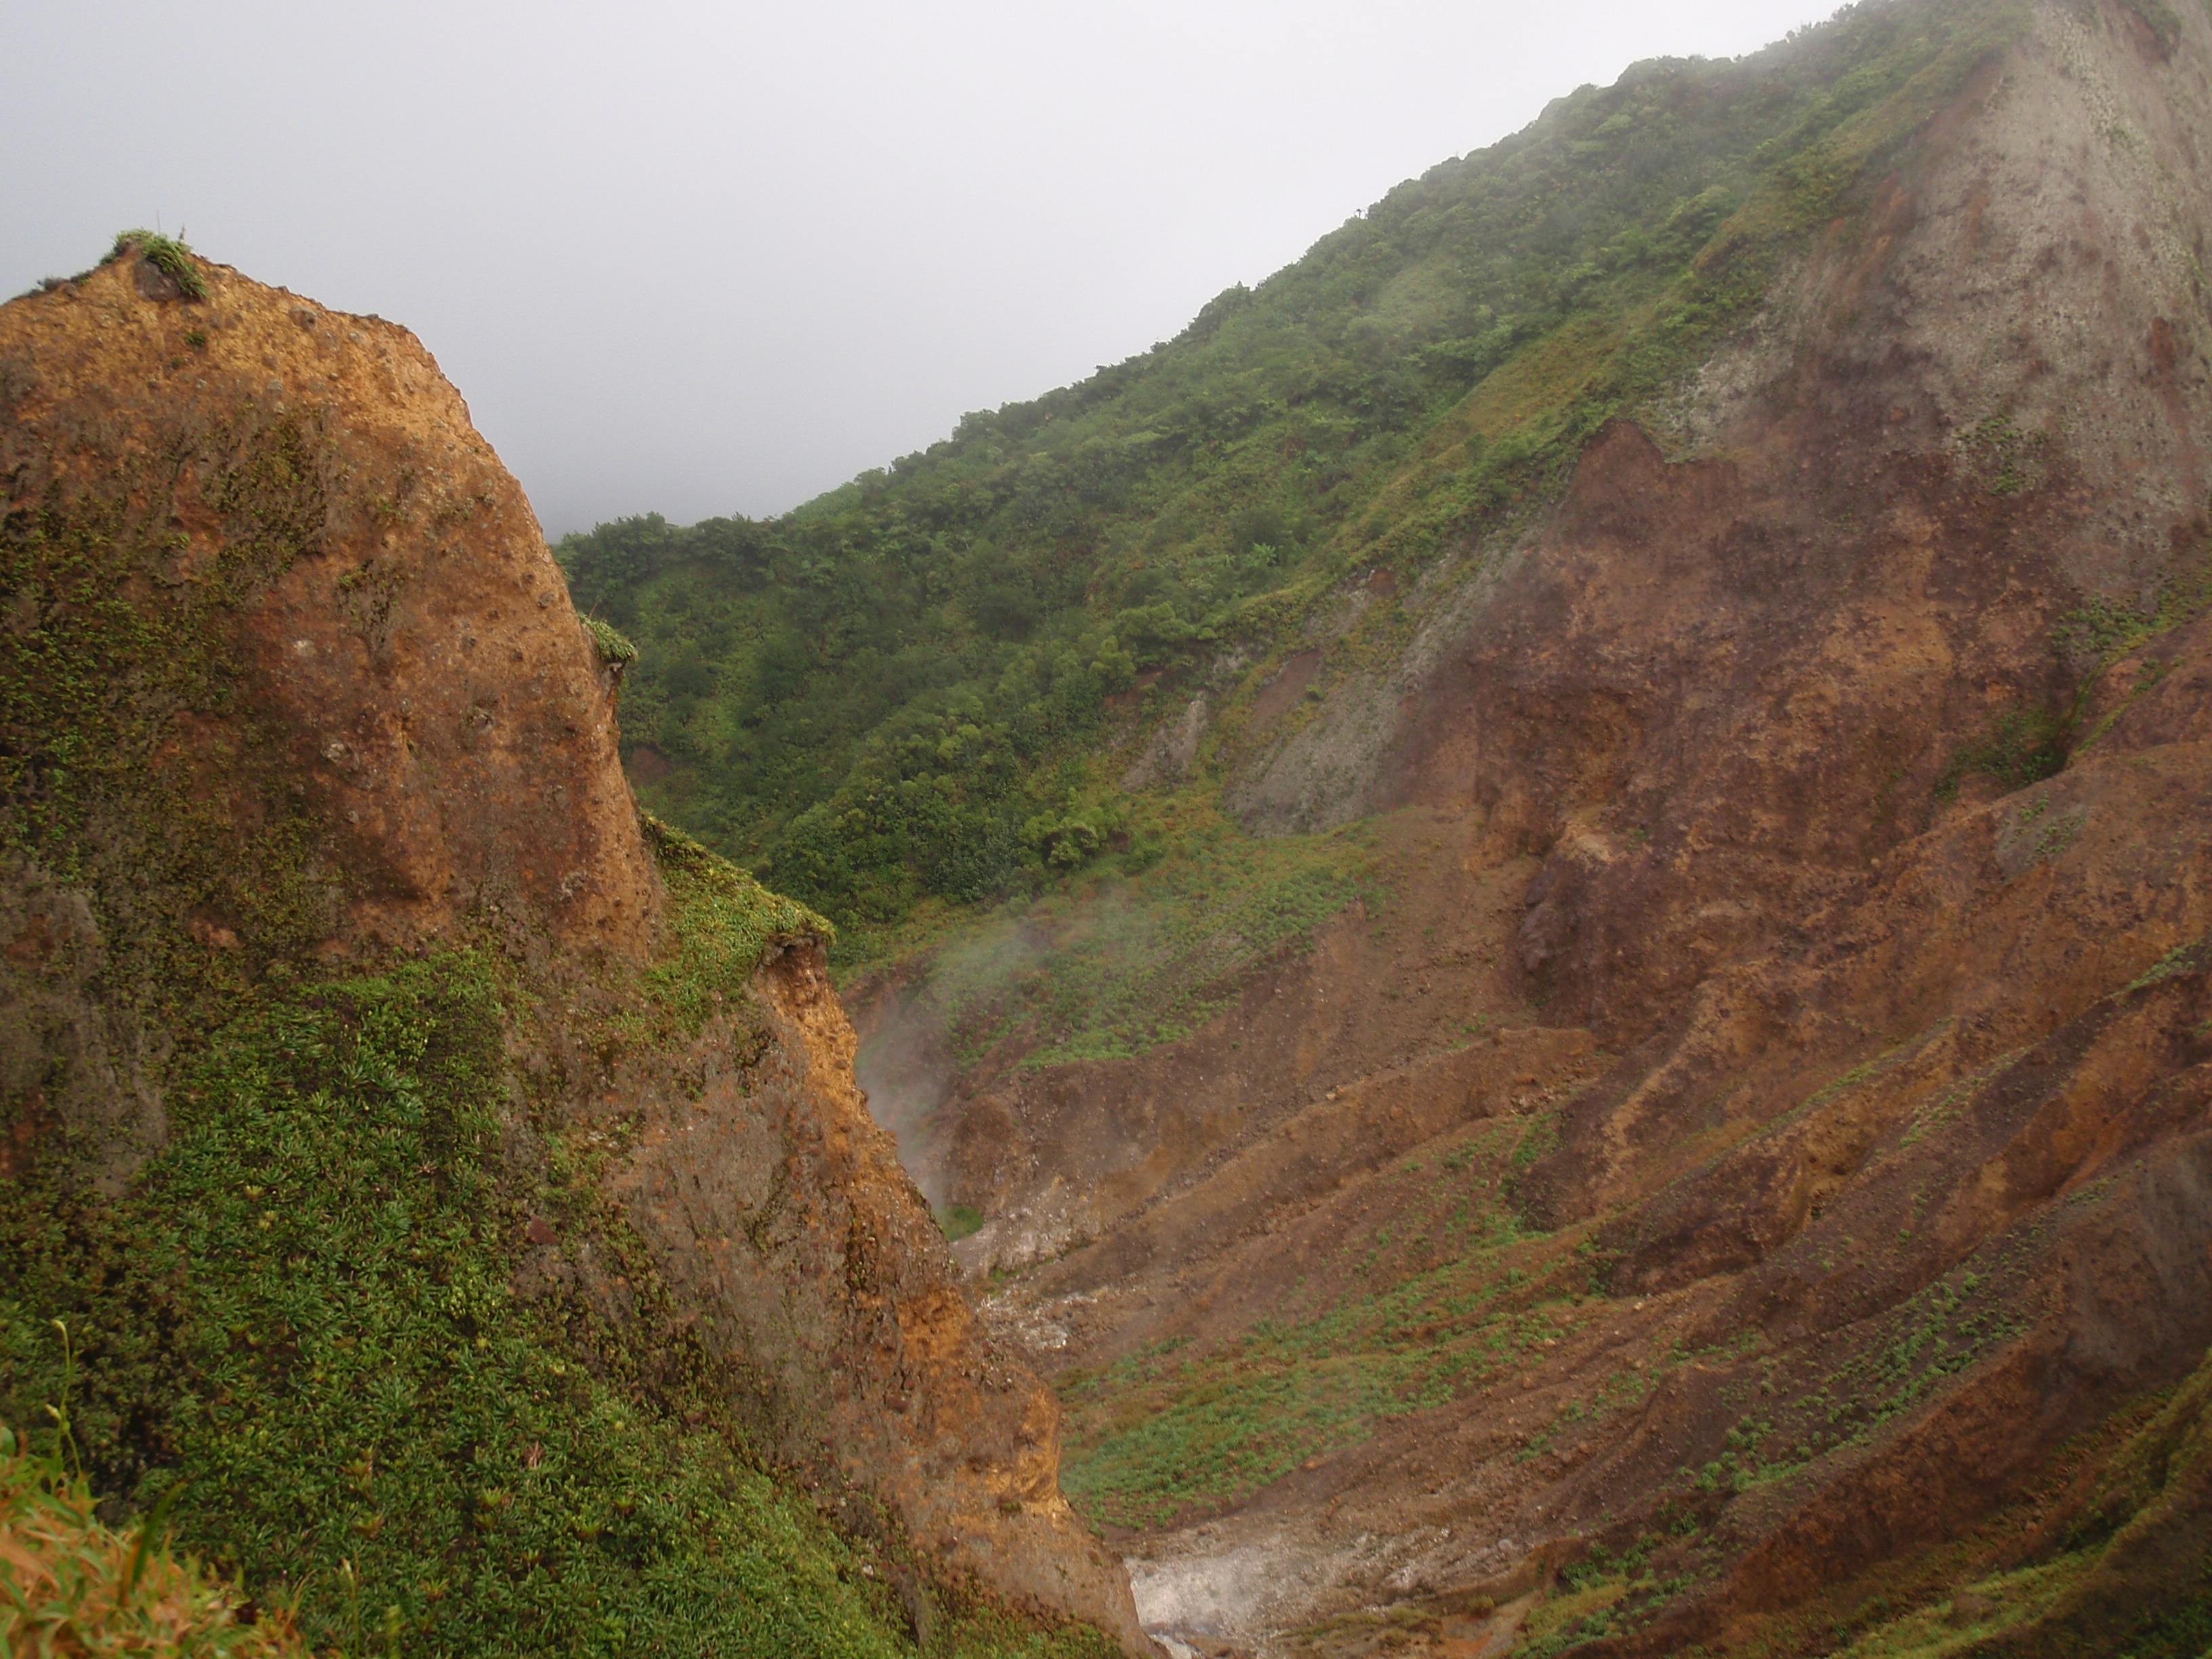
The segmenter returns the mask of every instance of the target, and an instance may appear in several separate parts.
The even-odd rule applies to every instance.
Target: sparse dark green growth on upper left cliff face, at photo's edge
[[[246,690],[239,619],[327,518],[312,418],[179,418],[9,458],[0,518],[0,838],[84,889],[97,991],[179,1031],[303,971],[343,869]],[[195,538],[186,524],[208,524]],[[223,929],[234,951],[195,938]]]

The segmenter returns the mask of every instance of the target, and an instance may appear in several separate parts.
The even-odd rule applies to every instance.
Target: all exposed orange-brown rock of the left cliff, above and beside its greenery
[[[0,1172],[91,1135],[119,1190],[168,1053],[257,984],[502,949],[549,1011],[515,1033],[515,1157],[619,1146],[602,1190],[668,1298],[546,1223],[518,1285],[710,1329],[765,1451],[854,1526],[1148,1650],[1060,1498],[1053,1396],[867,1119],[821,940],[787,929],[697,1035],[593,1024],[644,1018],[681,927],[619,675],[460,396],[392,323],[199,270],[186,299],[133,250],[0,310]]]

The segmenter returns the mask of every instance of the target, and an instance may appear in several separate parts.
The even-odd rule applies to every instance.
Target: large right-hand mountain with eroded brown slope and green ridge
[[[1546,327],[1345,427],[1389,456],[1318,531],[1283,507],[1321,518],[1321,416],[1389,374],[1248,425],[1225,376],[1203,469],[1148,462],[1175,487],[1121,540],[1084,507],[1104,447],[1082,473],[1037,436],[1093,405],[978,422],[960,453],[1006,471],[942,473],[945,511],[1002,489],[998,535],[1033,500],[1042,568],[1086,584],[1020,650],[1082,644],[1075,675],[1110,635],[1128,681],[1031,754],[1006,644],[969,701],[916,692],[858,794],[810,785],[847,865],[796,885],[872,891],[880,834],[914,894],[845,953],[872,1106],[1192,1650],[2203,1641],[2212,15],[1882,7],[1814,40],[1792,62],[1834,80],[1770,88],[1783,144],[1725,217],[1657,270],[1588,254],[1666,219],[1531,265],[1568,296]],[[1630,93],[1557,119],[1597,144]],[[1528,153],[1582,159],[1553,137]],[[1418,310],[1407,270],[1343,341]],[[1663,327],[1714,290],[1712,334]],[[1261,292],[1206,341],[1259,338]],[[752,526],[750,593],[796,580],[776,557],[878,571],[869,489],[907,500],[858,487],[805,553]],[[1015,615],[1009,562],[925,540],[940,604]],[[1263,544],[1296,555],[1190,604]],[[765,613],[670,560],[624,588],[639,633],[703,664],[695,737],[765,739],[717,679],[750,659],[701,646]],[[712,752],[641,708],[641,787],[714,823]],[[1006,803],[971,896],[885,805],[958,816],[956,765]]]

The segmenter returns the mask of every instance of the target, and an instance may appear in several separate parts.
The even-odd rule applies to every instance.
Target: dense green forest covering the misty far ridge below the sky
[[[787,518],[568,538],[580,608],[639,646],[641,792],[858,953],[931,902],[1175,852],[1133,832],[1102,732],[1201,675],[1250,688],[1352,573],[1495,544],[2015,24],[2006,0],[1900,0],[1741,62],[1639,64],[1175,341]]]

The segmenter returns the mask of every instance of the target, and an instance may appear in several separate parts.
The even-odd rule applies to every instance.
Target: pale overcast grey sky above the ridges
[[[560,535],[774,513],[1398,179],[1834,0],[9,0],[0,294],[135,223],[407,323]]]

